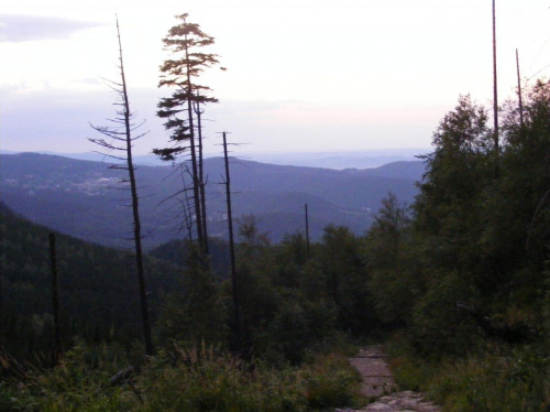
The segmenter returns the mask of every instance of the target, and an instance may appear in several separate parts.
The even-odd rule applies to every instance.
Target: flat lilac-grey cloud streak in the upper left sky
[[[0,43],[67,39],[101,23],[26,14],[0,14]]]

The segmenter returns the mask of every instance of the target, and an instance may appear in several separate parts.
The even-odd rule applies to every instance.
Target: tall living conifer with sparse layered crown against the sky
[[[201,202],[204,187],[201,171],[202,143],[201,133],[196,129],[196,116],[200,110],[194,110],[199,105],[217,102],[218,99],[207,96],[208,86],[196,83],[205,68],[218,64],[218,55],[204,53],[202,47],[213,44],[213,37],[202,32],[198,24],[187,21],[188,14],[177,15],[182,23],[173,26],[165,39],[164,48],[172,53],[161,66],[160,87],[170,87],[170,97],[158,102],[157,116],[166,119],[164,126],[172,131],[168,148],[154,149],[153,152],[165,161],[176,161],[189,152],[191,162],[193,197],[196,216],[197,240],[204,253],[208,250],[206,234],[206,202]],[[204,191],[202,191],[204,192]],[[204,196],[202,196],[204,197]]]

